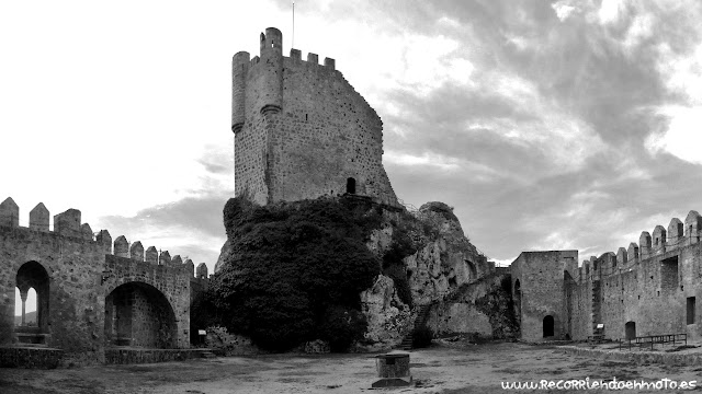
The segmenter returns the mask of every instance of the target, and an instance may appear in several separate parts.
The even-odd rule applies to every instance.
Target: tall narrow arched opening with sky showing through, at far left
[[[18,341],[25,344],[46,344],[49,334],[49,277],[48,273],[37,262],[29,262],[18,269],[15,286],[22,300],[22,312],[20,324],[15,327]],[[30,290],[36,292],[36,315],[35,318],[27,318],[26,302]],[[30,299],[31,300],[31,299]]]

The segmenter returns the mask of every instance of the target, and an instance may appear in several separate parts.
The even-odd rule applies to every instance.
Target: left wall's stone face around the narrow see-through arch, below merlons
[[[0,225],[0,344],[15,340],[18,270],[27,262],[36,262],[50,278],[47,344],[67,351],[97,354],[103,346],[104,298],[97,291],[103,260],[104,245],[93,241],[92,234],[88,240],[55,231]]]

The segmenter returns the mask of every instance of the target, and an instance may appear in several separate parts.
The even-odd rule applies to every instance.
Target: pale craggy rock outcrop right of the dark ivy
[[[356,344],[359,351],[396,347],[411,332],[419,305],[437,304],[495,270],[443,202],[428,202],[414,212],[383,210],[378,224],[364,240],[378,259],[381,275],[360,294],[367,331]],[[230,241],[222,247],[215,273],[231,259]],[[464,305],[452,308],[442,313],[455,315],[455,324],[467,320],[480,323],[480,332],[491,331],[489,316]]]

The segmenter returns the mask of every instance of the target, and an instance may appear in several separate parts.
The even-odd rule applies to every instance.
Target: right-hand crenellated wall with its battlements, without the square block
[[[690,211],[684,223],[673,218],[667,230],[656,225],[653,235],[642,232],[638,244],[585,260],[574,289],[581,297],[571,300],[573,338],[586,339],[597,324],[604,325],[605,337],[625,338],[626,323],[635,323],[637,336],[687,333],[698,338],[701,235],[702,218]],[[689,298],[695,300],[690,324]]]

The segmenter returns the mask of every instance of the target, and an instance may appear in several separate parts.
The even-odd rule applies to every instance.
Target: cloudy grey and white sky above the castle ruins
[[[3,1],[0,200],[205,263],[234,196],[231,56],[283,32],[384,123],[398,197],[499,265],[702,210],[702,3]],[[294,43],[293,43],[294,40]]]

